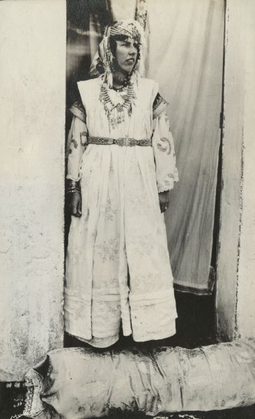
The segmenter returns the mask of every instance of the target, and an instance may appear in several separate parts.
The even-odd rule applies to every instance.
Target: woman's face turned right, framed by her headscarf
[[[132,38],[116,41],[116,60],[123,74],[131,73],[137,61],[138,44]]]

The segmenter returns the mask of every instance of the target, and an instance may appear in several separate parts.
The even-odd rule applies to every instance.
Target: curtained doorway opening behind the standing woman
[[[79,8],[79,22],[76,19],[75,7]],[[155,2],[153,5],[153,2],[148,1],[150,38],[146,60],[149,68],[148,77],[160,81],[164,96],[170,102],[169,117],[172,122],[173,138],[176,139],[176,154],[178,160],[183,162],[179,170],[180,183],[171,193],[173,204],[166,216],[166,224],[173,276],[176,278],[177,344],[195,347],[215,341],[214,290],[222,158],[219,121],[223,103],[225,8],[222,0],[208,0],[203,2],[203,6],[202,3],[192,3],[188,11],[185,1],[182,5],[180,2],[171,1],[164,3],[164,7],[169,8],[165,15],[171,17],[170,27],[173,28],[167,42],[160,38],[164,27],[159,29],[160,22],[156,19],[153,22],[150,19],[150,16],[158,13],[158,3],[155,6]],[[80,13],[80,10],[81,2],[68,2],[67,109],[77,100],[77,80],[88,79],[91,59],[100,42],[102,31],[105,24],[112,20],[112,10],[109,9],[107,1],[97,3],[96,7],[95,3],[86,2],[83,13]],[[198,19],[198,14],[203,20]],[[185,18],[182,20],[184,15]],[[198,21],[200,24],[194,24],[192,27],[192,22]],[[169,20],[164,24],[169,27]],[[186,38],[183,35],[185,25]],[[201,27],[206,36],[203,43],[199,41]],[[153,36],[156,31],[157,36]],[[189,31],[190,38],[187,36]],[[163,50],[156,47],[157,45],[161,45],[160,48]],[[168,45],[168,50],[165,45]],[[187,54],[187,60],[182,58],[183,52]],[[157,54],[162,54],[161,57],[164,57],[161,64]],[[173,61],[173,56],[176,58],[175,66],[169,64]],[[188,72],[185,67],[189,68]],[[212,67],[217,68],[217,71]],[[208,115],[210,117],[205,124],[204,118]],[[182,118],[183,122],[180,122]],[[67,132],[70,122],[71,116],[67,112]],[[199,145],[199,138],[206,141]],[[208,147],[211,147],[209,153]],[[206,160],[206,154],[210,159]],[[197,161],[199,164],[196,164]],[[201,199],[203,203],[199,205]],[[180,207],[188,208],[183,216],[180,216]],[[65,244],[67,244],[70,217],[65,214]]]

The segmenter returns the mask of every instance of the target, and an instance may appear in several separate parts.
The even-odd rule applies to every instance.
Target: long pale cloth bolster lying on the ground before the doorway
[[[250,339],[147,353],[58,349],[26,375],[24,415],[86,419],[118,413],[114,417],[121,418],[124,413],[165,416],[250,406],[255,403],[254,343]]]

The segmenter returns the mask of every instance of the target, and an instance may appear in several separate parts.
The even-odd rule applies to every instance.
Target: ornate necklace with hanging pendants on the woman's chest
[[[136,98],[134,84],[132,83],[120,90],[109,89],[106,83],[102,83],[100,87],[100,101],[104,105],[105,113],[112,128],[116,128],[118,124],[125,120],[125,108],[127,114],[131,116],[132,105],[134,105]]]

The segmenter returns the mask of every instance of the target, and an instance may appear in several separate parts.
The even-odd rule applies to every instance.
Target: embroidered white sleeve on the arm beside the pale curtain
[[[173,189],[174,182],[178,182],[176,168],[176,154],[173,147],[169,119],[166,112],[153,121],[153,152],[156,164],[157,189],[159,192]]]

